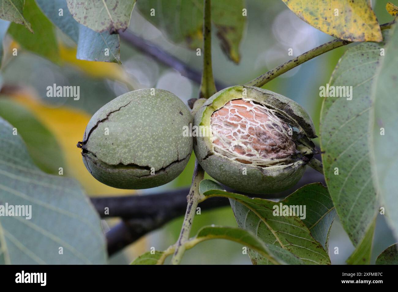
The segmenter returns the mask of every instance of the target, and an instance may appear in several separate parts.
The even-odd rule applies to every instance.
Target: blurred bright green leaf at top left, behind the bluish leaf
[[[34,0],[26,0],[24,15],[30,21],[35,33],[32,34],[25,27],[16,23],[11,23],[8,33],[23,48],[44,56],[55,63],[59,62],[54,26],[40,11]]]

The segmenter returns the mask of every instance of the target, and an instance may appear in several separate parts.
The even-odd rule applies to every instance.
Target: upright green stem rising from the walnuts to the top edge
[[[211,0],[204,0],[203,18],[203,74],[199,98],[208,99],[217,92],[211,66]]]

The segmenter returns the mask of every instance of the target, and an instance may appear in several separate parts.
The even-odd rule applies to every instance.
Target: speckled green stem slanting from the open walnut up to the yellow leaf
[[[389,29],[391,28],[391,25],[394,23],[395,21],[384,23],[380,25],[380,29]],[[287,71],[297,67],[298,65],[307,62],[308,60],[311,60],[312,58],[315,58],[326,52],[329,52],[330,50],[339,48],[340,46],[345,46],[349,43],[352,42],[345,41],[342,39],[334,39],[333,41],[330,41],[326,44],[322,44],[316,48],[313,48],[312,50],[309,50],[308,52],[305,52],[304,54],[301,54],[300,56],[297,56],[296,58],[289,60],[283,63],[282,65],[279,65],[278,67],[273,68],[271,71],[268,71],[267,73],[260,75],[259,77],[253,79],[252,81],[249,81],[245,85],[261,87],[266,83],[268,83],[269,81],[271,81],[272,79],[275,79],[279,75],[286,73]]]

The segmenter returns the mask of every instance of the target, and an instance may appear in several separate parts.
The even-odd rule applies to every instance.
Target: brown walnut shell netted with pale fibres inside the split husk
[[[261,165],[296,151],[289,125],[254,101],[227,102],[211,115],[210,126],[215,151],[242,163]]]

